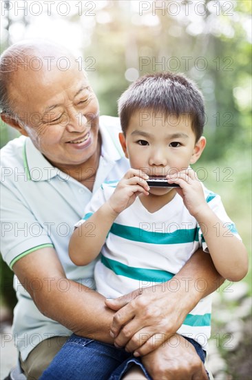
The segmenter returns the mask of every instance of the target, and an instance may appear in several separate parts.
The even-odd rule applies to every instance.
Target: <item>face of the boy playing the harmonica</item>
[[[204,137],[196,142],[189,115],[165,118],[146,110],[132,115],[126,136],[120,133],[119,138],[131,167],[156,177],[187,169],[200,158],[206,143]],[[171,190],[152,187],[150,193],[161,195]]]

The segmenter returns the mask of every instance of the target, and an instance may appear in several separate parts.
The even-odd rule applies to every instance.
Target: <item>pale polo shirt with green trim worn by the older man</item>
[[[117,117],[100,117],[101,158],[93,193],[102,182],[120,179],[129,162],[118,142]],[[92,192],[77,180],[52,167],[30,138],[21,136],[1,149],[1,254],[12,267],[30,252],[54,247],[67,278],[94,288],[94,263],[76,267],[68,256],[73,226],[84,215]],[[50,263],[48,263],[50,265]],[[40,286],[34,279],[33,287]],[[67,291],[67,281],[59,281]],[[70,330],[49,319],[34,305],[14,276],[19,302],[14,309],[13,333],[23,360],[37,344]],[[48,279],[50,287],[50,279]],[[81,289],[81,288],[80,288]],[[81,296],[81,293],[80,293]]]

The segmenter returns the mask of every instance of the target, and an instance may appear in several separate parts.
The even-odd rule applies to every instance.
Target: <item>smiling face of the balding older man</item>
[[[22,81],[25,81],[23,83]],[[83,71],[19,70],[9,89],[21,131],[55,166],[86,162],[97,151],[98,101]]]

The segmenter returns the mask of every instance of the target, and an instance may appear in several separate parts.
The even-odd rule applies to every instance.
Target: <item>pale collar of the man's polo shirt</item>
[[[113,135],[113,131],[109,131],[109,126],[100,123],[99,131],[102,140],[101,160],[106,164],[107,169],[111,170],[115,162],[124,156],[123,150],[116,140],[118,136]],[[30,137],[25,139],[23,164],[28,180],[35,182],[48,181],[62,173],[60,169],[53,167],[43,154],[36,149]],[[98,171],[100,171],[99,168]]]

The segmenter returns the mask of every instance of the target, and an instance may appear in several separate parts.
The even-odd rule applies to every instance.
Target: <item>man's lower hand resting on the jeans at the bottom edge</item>
[[[141,358],[154,380],[207,380],[207,372],[195,348],[174,334],[155,351]]]

